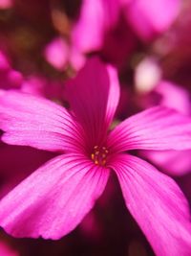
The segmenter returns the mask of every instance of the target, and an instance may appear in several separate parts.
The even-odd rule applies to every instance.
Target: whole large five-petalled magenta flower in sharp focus
[[[190,255],[189,207],[179,186],[125,152],[190,149],[190,120],[159,106],[109,131],[119,97],[117,73],[96,58],[67,84],[67,95],[71,112],[45,99],[1,91],[2,140],[60,151],[0,201],[1,226],[15,237],[59,239],[92,209],[113,171],[156,254]]]

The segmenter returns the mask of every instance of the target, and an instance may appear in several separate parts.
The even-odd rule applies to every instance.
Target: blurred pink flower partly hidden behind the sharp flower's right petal
[[[158,98],[156,103],[155,97]],[[149,106],[164,105],[189,116],[191,113],[190,97],[189,93],[179,85],[170,81],[160,81],[147,96],[147,102]],[[143,151],[142,153],[170,175],[185,175],[191,172],[191,151]]]

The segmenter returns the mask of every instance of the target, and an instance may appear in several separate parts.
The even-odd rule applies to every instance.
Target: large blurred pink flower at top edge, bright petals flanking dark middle
[[[180,11],[180,0],[83,0],[72,30],[74,52],[99,52],[121,66],[143,41],[166,31]],[[135,35],[136,34],[136,35]]]

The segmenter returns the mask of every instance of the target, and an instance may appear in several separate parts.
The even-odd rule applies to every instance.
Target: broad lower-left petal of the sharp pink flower
[[[15,237],[59,239],[91,210],[108,175],[83,155],[59,155],[0,201],[0,224]]]

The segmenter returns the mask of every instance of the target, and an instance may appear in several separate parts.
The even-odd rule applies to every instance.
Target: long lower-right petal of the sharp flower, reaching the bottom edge
[[[115,169],[127,208],[158,256],[189,256],[189,206],[172,178],[132,155],[118,155]]]

